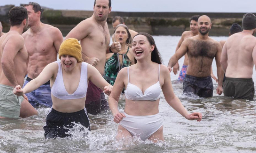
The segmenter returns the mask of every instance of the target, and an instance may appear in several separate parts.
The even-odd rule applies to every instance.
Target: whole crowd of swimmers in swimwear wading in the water
[[[201,113],[187,112],[172,89],[170,72],[173,68],[178,73],[183,55],[179,80],[184,81],[184,94],[212,97],[213,78],[218,82],[217,94],[224,91],[225,96],[253,99],[256,17],[252,13],[244,15],[243,29],[238,24],[231,26],[226,42],[208,36],[212,27],[208,16],[193,16],[190,31],[182,33],[166,67],[153,37],[129,29],[121,17],[113,19],[115,30],[109,45],[106,21],[110,12],[111,0],[95,0],[92,17],[76,25],[63,41],[58,28],[40,21],[39,4],[12,8],[10,31],[4,34],[0,27],[0,118],[29,117],[37,115],[34,107],[51,107],[44,126],[48,139],[69,136],[68,128],[78,122],[91,131],[88,113],[110,109],[114,122],[119,123],[116,139],[137,136],[163,141],[158,109],[161,92],[183,117],[202,120]],[[218,78],[212,73],[214,57]],[[125,107],[119,112],[122,93]]]

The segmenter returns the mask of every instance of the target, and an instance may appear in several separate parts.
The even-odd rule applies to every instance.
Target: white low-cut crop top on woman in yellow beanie
[[[81,66],[81,74],[80,81],[76,91],[73,94],[68,94],[62,76],[62,67],[60,61],[56,61],[58,63],[58,73],[55,79],[54,84],[52,85],[52,95],[59,99],[79,99],[84,98],[87,92],[87,64],[86,62],[82,62]]]

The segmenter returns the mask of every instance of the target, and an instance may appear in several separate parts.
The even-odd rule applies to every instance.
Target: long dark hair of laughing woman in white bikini
[[[158,64],[162,64],[162,63],[163,63],[163,62],[162,62],[163,60],[162,60],[161,55],[160,55],[160,53],[159,53],[159,51],[158,51],[158,49],[157,49],[157,47],[156,47],[156,43],[155,43],[154,38],[153,38],[150,34],[148,34],[148,33],[138,33],[138,34],[136,34],[134,37],[136,37],[136,36],[138,36],[138,35],[146,36],[147,39],[148,39],[149,44],[155,46],[154,50],[151,52],[151,61],[152,61],[152,62],[156,62],[156,63],[158,63]],[[134,37],[133,37],[133,38],[134,38]],[[137,60],[136,60],[136,59],[134,59],[134,63],[137,63]]]

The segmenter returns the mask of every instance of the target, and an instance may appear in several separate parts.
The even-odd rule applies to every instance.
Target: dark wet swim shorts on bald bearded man
[[[194,77],[186,75],[183,82],[183,93],[194,93],[199,97],[212,97],[213,84],[212,78],[209,77]]]

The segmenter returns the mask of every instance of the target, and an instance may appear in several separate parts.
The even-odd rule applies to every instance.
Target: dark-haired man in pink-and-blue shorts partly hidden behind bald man
[[[199,31],[197,28],[197,20],[200,16],[199,15],[194,15],[190,18],[190,31],[184,31],[181,35],[180,41],[176,47],[175,52],[177,52],[177,50],[180,48],[181,43],[186,39],[186,38],[190,38],[193,36],[198,35]],[[187,53],[185,54],[185,59],[182,65],[182,68],[180,70],[180,65],[179,65],[179,61],[173,66],[173,73],[176,75],[178,74],[178,70],[180,70],[180,75],[178,77],[179,81],[183,81],[185,79],[186,76],[186,72],[187,72],[187,68],[188,68],[188,55]],[[211,71],[211,77],[217,81],[217,78],[214,76],[214,74]]]

